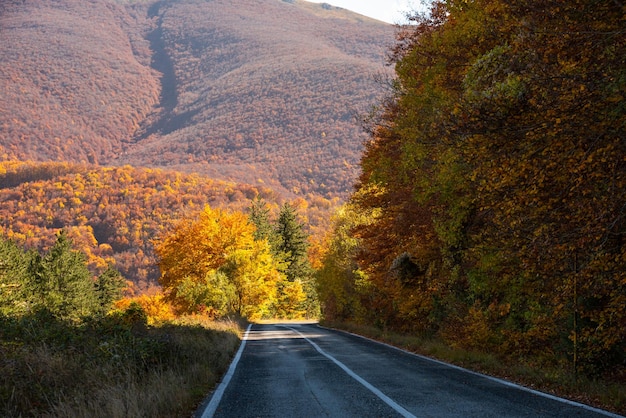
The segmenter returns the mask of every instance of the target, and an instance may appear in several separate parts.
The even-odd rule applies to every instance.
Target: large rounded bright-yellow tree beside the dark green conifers
[[[180,311],[269,313],[279,273],[254,230],[245,214],[206,206],[197,219],[181,221],[156,243],[160,283]]]

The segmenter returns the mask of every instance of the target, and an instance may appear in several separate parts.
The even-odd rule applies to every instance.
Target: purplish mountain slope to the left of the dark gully
[[[96,163],[121,152],[160,88],[148,44],[122,29],[130,20],[103,1],[2,2],[0,158]]]

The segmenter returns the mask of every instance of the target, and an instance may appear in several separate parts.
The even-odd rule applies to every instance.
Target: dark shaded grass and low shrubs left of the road
[[[0,317],[0,416],[191,416],[228,368],[241,325],[127,319]]]

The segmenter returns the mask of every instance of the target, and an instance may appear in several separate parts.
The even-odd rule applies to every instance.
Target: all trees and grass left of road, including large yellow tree
[[[61,230],[45,251],[0,235],[0,415],[189,416],[239,346],[245,320],[317,316],[308,236],[206,206],[156,238],[159,288],[133,295]],[[239,318],[234,320],[232,318]]]

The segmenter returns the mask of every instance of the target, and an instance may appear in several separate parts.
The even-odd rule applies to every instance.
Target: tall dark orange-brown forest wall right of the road
[[[626,5],[434,1],[401,30],[323,316],[626,376]]]

